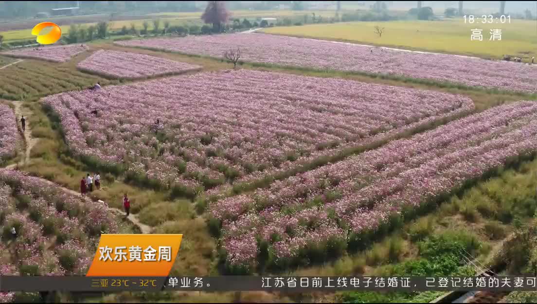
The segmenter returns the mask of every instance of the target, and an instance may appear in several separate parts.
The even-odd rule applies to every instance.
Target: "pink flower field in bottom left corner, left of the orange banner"
[[[105,206],[0,169],[0,275],[84,275],[101,231],[118,233]],[[0,299],[9,301],[10,294]]]

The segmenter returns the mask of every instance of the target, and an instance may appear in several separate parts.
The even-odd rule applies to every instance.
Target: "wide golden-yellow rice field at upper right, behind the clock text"
[[[374,32],[377,25],[385,28],[382,37]],[[482,30],[483,41],[470,40],[473,29]],[[502,30],[501,41],[489,40],[491,29]],[[349,22],[273,27],[263,32],[495,59],[510,54],[523,56],[529,61],[537,54],[537,24],[535,21],[519,19],[511,19],[511,24],[501,24],[499,21],[492,24],[465,24],[462,18],[442,21]]]

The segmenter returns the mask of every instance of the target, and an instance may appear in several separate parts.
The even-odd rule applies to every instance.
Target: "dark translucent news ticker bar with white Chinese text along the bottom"
[[[535,277],[11,277],[0,292],[537,291]]]

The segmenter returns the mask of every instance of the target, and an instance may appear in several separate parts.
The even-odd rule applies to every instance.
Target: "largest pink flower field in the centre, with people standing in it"
[[[42,101],[77,154],[188,189],[262,178],[474,108],[459,95],[253,70]]]

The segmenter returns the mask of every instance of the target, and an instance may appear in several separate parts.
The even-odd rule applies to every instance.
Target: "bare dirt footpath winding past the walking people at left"
[[[13,104],[15,106],[15,116],[17,118],[17,125],[18,125],[18,122],[20,121],[20,117],[22,115],[24,115],[25,118],[26,118],[26,121],[28,121],[28,118],[30,116],[32,116],[32,112],[23,111],[21,109],[22,108],[22,102],[21,101],[13,101]],[[28,125],[28,124],[26,124],[26,129],[25,129],[24,132],[22,132],[21,129],[19,131],[21,133],[23,133],[23,138],[24,138],[24,146],[25,146],[24,157],[17,164],[12,164],[12,165],[9,165],[9,166],[5,167],[6,169],[18,169],[19,167],[22,167],[25,164],[28,164],[28,162],[30,162],[30,151],[32,150],[33,146],[35,146],[35,144],[37,144],[37,142],[39,140],[37,138],[32,137],[32,129],[31,129],[30,125]],[[71,195],[77,195],[77,196],[80,195],[80,193],[76,192],[75,190],[71,190],[69,188],[57,185],[56,183],[54,183],[52,181],[49,181],[47,179],[40,178],[39,176],[35,176],[35,177],[39,178],[41,181],[47,183],[50,186],[53,186],[53,187],[61,189],[65,193],[68,193],[68,194],[71,194]],[[89,197],[85,197],[85,200],[87,200],[89,203],[96,203],[96,202],[91,201],[89,199]],[[104,207],[106,207],[108,210],[112,211],[115,214],[122,214],[122,215],[125,214],[123,210],[120,210],[118,208],[110,207],[104,201],[98,200],[97,203],[103,204]],[[138,227],[140,229],[140,231],[142,232],[142,234],[150,234],[151,231],[153,231],[153,227],[150,227],[150,226],[148,226],[146,224],[141,223],[140,220],[138,219],[138,216],[135,215],[135,214],[131,213],[126,218],[133,225]]]

